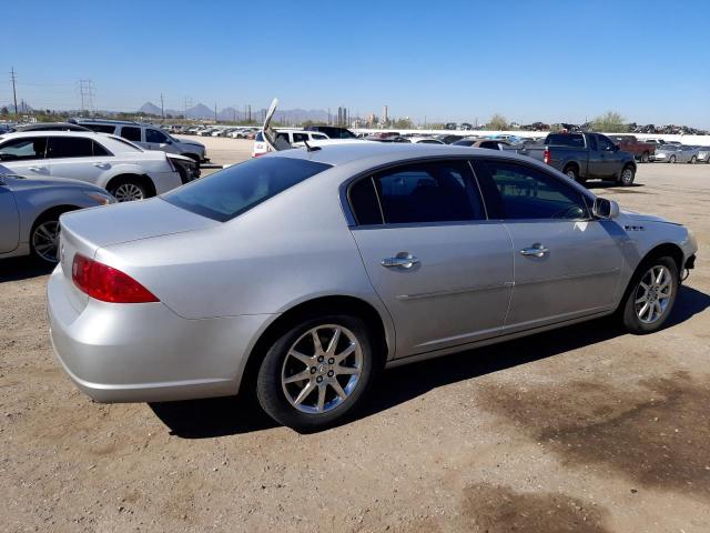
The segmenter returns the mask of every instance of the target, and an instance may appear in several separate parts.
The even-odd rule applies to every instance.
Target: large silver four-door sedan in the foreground
[[[61,224],[51,338],[82,391],[248,389],[298,430],[352,413],[385,366],[615,312],[657,331],[697,251],[549,165],[426,144],[274,152]]]

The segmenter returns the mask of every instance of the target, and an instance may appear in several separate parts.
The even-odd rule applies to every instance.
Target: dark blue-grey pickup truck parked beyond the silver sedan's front
[[[630,185],[636,177],[633,155],[600,133],[550,133],[544,144],[527,144],[517,152],[561,170],[580,183],[611,179]]]

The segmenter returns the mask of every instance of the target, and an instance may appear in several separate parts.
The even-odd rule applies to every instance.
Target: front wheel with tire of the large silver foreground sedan
[[[678,286],[678,265],[672,258],[643,261],[637,269],[622,303],[626,329],[637,335],[658,331],[673,309]]]

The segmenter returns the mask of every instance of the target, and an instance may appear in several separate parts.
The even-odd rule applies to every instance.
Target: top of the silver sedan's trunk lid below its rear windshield
[[[203,230],[220,222],[180,209],[161,198],[72,211],[62,215],[62,231],[81,239],[91,253],[99,248],[154,237]]]

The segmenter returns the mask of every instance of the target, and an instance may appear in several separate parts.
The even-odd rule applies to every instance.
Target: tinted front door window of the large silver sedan
[[[582,193],[525,164],[484,160],[476,163],[489,211],[503,219],[587,219]],[[481,169],[483,172],[478,172]]]

